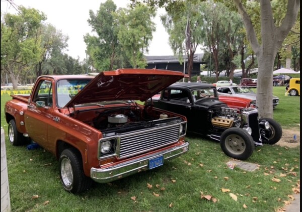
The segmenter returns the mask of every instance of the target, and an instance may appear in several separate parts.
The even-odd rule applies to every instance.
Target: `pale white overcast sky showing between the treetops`
[[[93,34],[92,28],[88,25],[89,10],[96,13],[100,4],[106,0],[12,0],[16,5],[26,8],[34,8],[43,12],[47,16],[46,22],[52,24],[57,30],[61,30],[64,35],[68,35],[68,51],[66,52],[73,58],[80,57],[80,61],[86,58],[86,44],[83,36],[86,33]],[[130,4],[129,0],[113,0],[117,8],[126,8]],[[1,0],[1,12],[16,13],[16,10]],[[156,32],[153,33],[153,40],[149,45],[150,56],[173,55],[169,46],[169,35],[160,21],[160,15],[165,14],[164,9],[157,12],[154,19],[156,23]],[[201,53],[196,51],[196,53]]]

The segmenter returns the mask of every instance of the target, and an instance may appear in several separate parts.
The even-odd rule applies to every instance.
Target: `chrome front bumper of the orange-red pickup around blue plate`
[[[137,158],[135,160],[130,160],[125,163],[118,164],[116,166],[111,166],[105,169],[102,168],[91,168],[90,177],[99,183],[111,182],[123,177],[129,176],[140,171],[148,170],[149,159],[155,158],[157,156],[164,156],[165,161],[171,160],[173,158],[179,157],[189,150],[189,143],[186,142],[181,146],[177,146],[162,152],[157,152],[152,155],[145,156],[143,158]]]

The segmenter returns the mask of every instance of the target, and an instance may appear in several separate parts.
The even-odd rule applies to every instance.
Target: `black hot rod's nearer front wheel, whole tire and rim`
[[[220,137],[222,151],[235,159],[248,159],[255,149],[253,138],[241,128],[229,128]]]

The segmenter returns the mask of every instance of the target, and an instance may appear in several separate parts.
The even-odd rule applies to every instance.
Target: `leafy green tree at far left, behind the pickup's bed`
[[[19,8],[19,14],[5,14],[1,27],[1,70],[9,74],[13,88],[17,88],[20,72],[37,63],[41,55],[41,22],[43,13],[35,9]]]

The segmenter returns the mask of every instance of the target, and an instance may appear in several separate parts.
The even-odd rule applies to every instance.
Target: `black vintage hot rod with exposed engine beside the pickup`
[[[147,105],[187,117],[188,132],[219,141],[222,151],[245,160],[255,146],[275,144],[282,136],[281,126],[270,118],[259,118],[255,108],[229,107],[218,99],[216,87],[203,83],[174,83]]]

